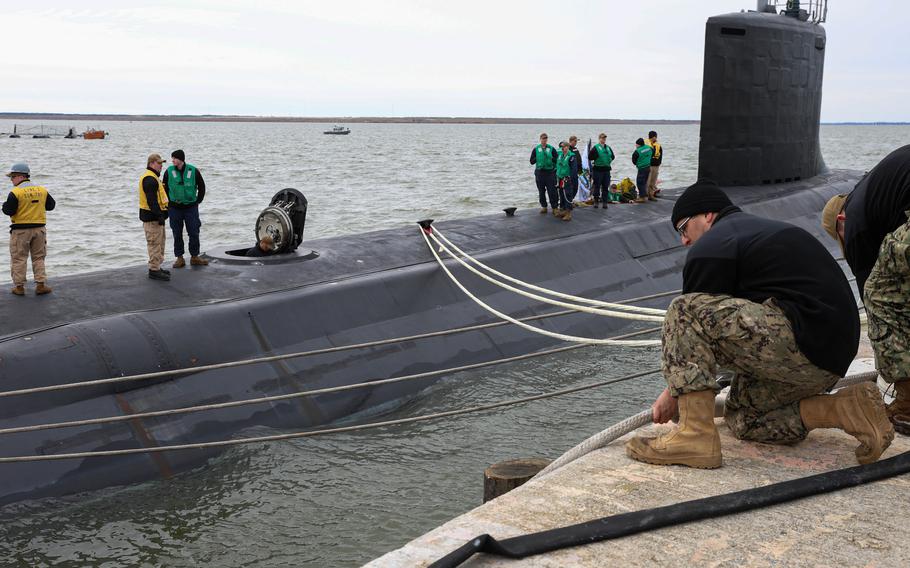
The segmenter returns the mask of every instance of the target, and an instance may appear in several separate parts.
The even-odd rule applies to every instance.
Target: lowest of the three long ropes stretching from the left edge
[[[647,375],[652,375],[654,373],[660,372],[660,369],[649,369],[647,371],[642,371],[640,373],[635,373],[632,375],[626,375],[619,377],[617,379],[609,379],[606,381],[599,381],[596,383],[588,383],[580,385],[577,387],[571,387],[566,389],[561,389],[557,391],[551,391],[548,393],[538,394],[534,396],[528,396],[524,398],[515,398],[511,400],[505,400],[501,402],[496,402],[493,404],[484,404],[480,406],[472,406],[469,408],[462,408],[459,410],[449,410],[446,412],[436,412],[433,414],[424,414],[420,416],[412,416],[410,418],[400,418],[397,420],[385,420],[382,422],[371,422],[369,424],[359,424],[355,426],[343,426],[339,428],[327,428],[324,430],[308,430],[305,432],[292,432],[289,434],[275,434],[272,436],[256,436],[253,438],[237,438],[234,440],[218,440],[215,442],[200,442],[196,444],[179,444],[172,446],[156,446],[151,448],[126,448],[121,450],[99,450],[93,452],[74,452],[68,454],[48,454],[40,456],[9,456],[9,457],[0,457],[0,463],[20,463],[20,462],[34,462],[34,461],[53,461],[53,460],[66,460],[66,459],[81,459],[81,458],[94,458],[94,457],[104,457],[104,456],[125,456],[132,454],[150,454],[150,453],[160,453],[160,452],[171,452],[177,450],[201,450],[206,448],[219,448],[224,446],[238,446],[241,444],[254,444],[260,442],[276,442],[281,440],[293,440],[296,438],[308,438],[312,436],[321,436],[324,434],[338,434],[341,432],[355,432],[359,430],[370,430],[373,428],[383,428],[386,426],[396,426],[399,424],[410,424],[412,422],[423,422],[426,420],[437,420],[439,418],[446,418],[449,416],[459,416],[462,414],[469,414],[473,412],[483,412],[485,410],[492,410],[494,408],[502,408],[504,406],[512,406],[516,404],[524,404],[526,402],[532,402],[535,400],[543,400],[547,398],[553,398],[557,396],[563,396],[566,394],[571,394],[575,392],[580,392],[584,390],[589,390],[593,388],[603,387],[607,385],[612,385],[620,383],[623,381],[629,381],[632,379],[637,379],[639,377],[644,377]]]

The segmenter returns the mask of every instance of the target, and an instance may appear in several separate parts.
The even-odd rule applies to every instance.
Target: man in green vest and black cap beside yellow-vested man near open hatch
[[[183,268],[183,225],[190,237],[190,264],[206,266],[209,261],[199,256],[199,204],[205,198],[205,180],[193,164],[186,163],[183,150],[171,152],[172,165],[164,174],[164,191],[168,199],[168,221],[174,233],[174,268]]]

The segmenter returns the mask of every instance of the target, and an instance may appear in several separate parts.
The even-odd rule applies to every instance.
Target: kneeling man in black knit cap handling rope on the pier
[[[720,467],[714,378],[724,368],[736,373],[724,420],[737,438],[792,444],[838,428],[859,441],[860,463],[877,460],[894,438],[877,387],[822,394],[847,371],[860,332],[850,285],[824,246],[799,227],[743,213],[706,180],[676,201],[672,223],[691,249],[683,294],[664,321],[668,386],[652,412],[658,423],[678,413],[679,425],[633,438],[628,455]]]

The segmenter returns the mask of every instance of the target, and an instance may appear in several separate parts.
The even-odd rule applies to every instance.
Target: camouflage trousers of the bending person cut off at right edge
[[[910,379],[910,221],[882,241],[863,304],[882,378],[889,383]]]

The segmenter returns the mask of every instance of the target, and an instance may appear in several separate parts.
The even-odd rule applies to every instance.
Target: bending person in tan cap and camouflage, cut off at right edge
[[[910,146],[898,148],[856,184],[832,197],[822,226],[856,276],[869,316],[875,364],[894,385],[888,417],[910,435]]]

